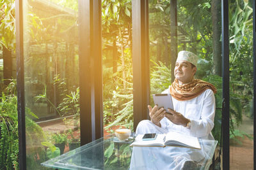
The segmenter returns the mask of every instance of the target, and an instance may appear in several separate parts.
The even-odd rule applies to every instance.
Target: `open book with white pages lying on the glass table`
[[[180,146],[187,148],[201,149],[198,138],[180,134],[179,132],[168,132],[167,134],[157,134],[156,139],[144,141],[143,134],[138,134],[135,141],[130,146]]]

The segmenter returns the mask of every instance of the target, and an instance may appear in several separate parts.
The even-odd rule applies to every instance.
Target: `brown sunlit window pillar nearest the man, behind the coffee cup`
[[[134,131],[138,123],[148,118],[149,57],[148,0],[132,0],[132,71]]]

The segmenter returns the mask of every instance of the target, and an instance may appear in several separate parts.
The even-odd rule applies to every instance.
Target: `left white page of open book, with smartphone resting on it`
[[[138,134],[130,146],[164,146],[165,134],[157,134],[156,139],[148,141],[144,141],[143,136],[144,134]]]

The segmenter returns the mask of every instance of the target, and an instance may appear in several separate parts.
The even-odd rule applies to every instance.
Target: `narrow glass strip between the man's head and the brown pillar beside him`
[[[148,4],[148,36],[151,94],[163,92],[172,83],[170,20],[170,1],[150,1]],[[152,95],[150,103],[154,106]]]

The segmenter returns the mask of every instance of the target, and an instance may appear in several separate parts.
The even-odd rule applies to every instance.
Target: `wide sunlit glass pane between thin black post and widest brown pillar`
[[[44,169],[79,146],[77,0],[23,5],[27,167]]]

